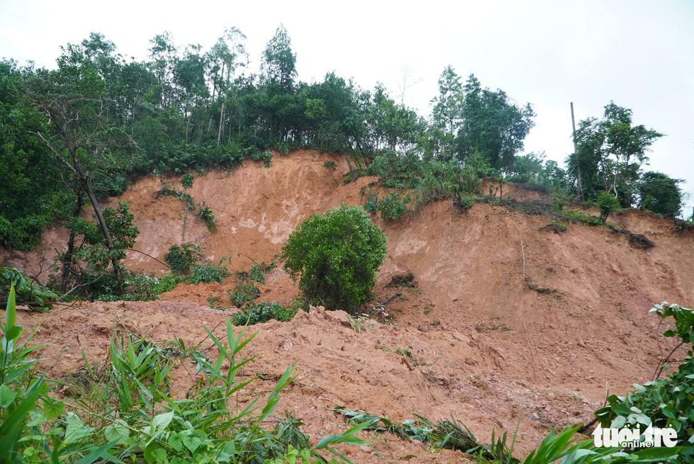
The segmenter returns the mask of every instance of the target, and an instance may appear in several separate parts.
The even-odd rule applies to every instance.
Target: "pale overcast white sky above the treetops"
[[[474,73],[482,86],[532,103],[524,152],[560,163],[573,152],[571,102],[576,123],[600,118],[610,101],[630,108],[635,125],[666,134],[644,169],[685,179],[692,214],[694,0],[0,0],[0,58],[53,68],[60,45],[98,32],[125,57],[145,60],[164,31],[180,47],[207,50],[236,26],[253,70],[280,23],[300,80],[334,71],[362,89],[380,82],[428,116],[450,64],[463,80]]]

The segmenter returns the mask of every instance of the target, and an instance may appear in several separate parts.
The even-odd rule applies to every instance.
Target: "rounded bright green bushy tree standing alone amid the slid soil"
[[[367,213],[342,204],[316,214],[290,234],[280,260],[307,305],[351,312],[370,300],[386,256],[385,234]]]

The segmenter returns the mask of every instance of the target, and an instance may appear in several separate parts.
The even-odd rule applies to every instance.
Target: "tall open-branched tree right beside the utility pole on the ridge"
[[[639,170],[648,164],[649,147],[663,134],[644,125],[632,126],[632,111],[610,101],[602,119],[588,118],[576,130],[578,151],[569,156],[569,175],[581,173],[588,198],[598,191],[612,192],[622,208],[635,199]]]

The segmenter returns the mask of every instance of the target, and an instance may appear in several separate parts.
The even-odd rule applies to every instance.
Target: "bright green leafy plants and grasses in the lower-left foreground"
[[[41,346],[30,346],[31,336],[19,343],[22,328],[16,325],[13,289],[5,314],[0,323],[0,463],[283,463],[285,456],[295,455],[302,462],[325,463],[321,451],[341,456],[331,448],[336,443],[368,444],[354,436],[364,426],[326,436],[316,446],[291,414],[273,428],[265,426],[294,379],[295,366],[284,371],[266,400],[251,399],[258,407],[227,408],[234,392],[253,382],[240,374],[250,361],[244,347],[255,336],[244,329],[234,334],[229,319],[222,339],[206,329],[216,358],[198,346],[186,347],[181,339],[157,346],[117,333],[103,365],[83,357],[86,367],[61,382],[69,393],[63,396],[51,393],[38,371],[33,351]],[[171,369],[183,360],[195,365],[191,377],[197,386],[176,399],[169,388]]]

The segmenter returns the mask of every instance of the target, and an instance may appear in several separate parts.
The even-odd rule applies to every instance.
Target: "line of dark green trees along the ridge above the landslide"
[[[563,169],[543,154],[518,155],[533,128],[533,107],[482,86],[474,74],[464,81],[446,67],[431,114],[423,117],[382,84],[365,90],[334,72],[319,82],[298,80],[283,26],[267,43],[257,74],[249,72],[245,44],[237,28],[224,30],[208,50],[180,47],[162,33],[150,40],[148,59],[137,61],[91,33],[62,47],[55,69],[4,59],[0,244],[31,249],[47,224],[75,222],[91,204],[104,247],[114,254],[98,198],[118,195],[133,176],[269,162],[268,149],[292,147],[343,153],[354,166],[375,164],[385,178],[472,166],[480,175],[538,183],[581,200],[606,191],[624,207],[679,212],[679,181],[642,172],[662,134],[632,125],[627,108],[610,103],[602,119],[581,121],[579,149]]]

